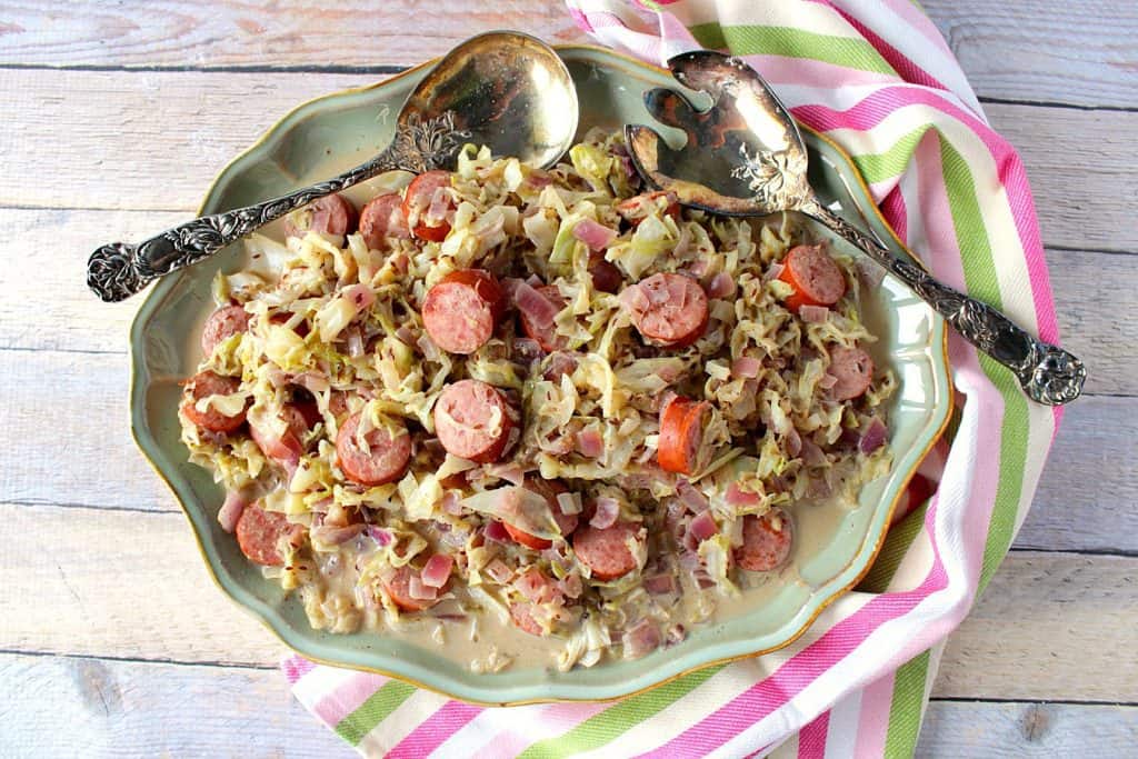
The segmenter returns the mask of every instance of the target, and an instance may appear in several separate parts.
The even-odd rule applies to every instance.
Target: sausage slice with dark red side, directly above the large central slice
[[[480,269],[462,269],[440,279],[423,298],[423,327],[447,353],[469,355],[483,347],[505,308],[502,288]]]

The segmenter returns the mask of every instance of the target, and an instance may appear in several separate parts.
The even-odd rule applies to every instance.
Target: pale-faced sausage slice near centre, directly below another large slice
[[[435,434],[446,452],[481,464],[497,461],[517,414],[501,390],[472,379],[448,385],[435,404]]]

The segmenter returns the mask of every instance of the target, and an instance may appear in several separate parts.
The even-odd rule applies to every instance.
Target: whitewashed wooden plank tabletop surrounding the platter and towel
[[[1138,6],[923,5],[1022,150],[1064,339],[1090,380],[1012,553],[949,642],[918,751],[1132,753]],[[138,300],[96,302],[83,265],[97,244],[185,218],[292,105],[503,26],[582,39],[539,0],[5,3],[0,756],[352,756],[291,699],[283,647],[213,587],[135,452]]]

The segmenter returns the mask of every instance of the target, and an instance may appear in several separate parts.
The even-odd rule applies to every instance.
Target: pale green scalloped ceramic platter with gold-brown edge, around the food
[[[559,52],[577,83],[582,133],[594,125],[650,123],[641,93],[674,84],[663,69],[599,48],[563,47]],[[404,98],[424,71],[420,67],[374,86],[298,107],[222,171],[201,212],[281,195],[377,152],[387,145]],[[840,204],[851,221],[868,225],[899,255],[909,256],[877,214],[849,158],[824,138],[809,131],[805,135],[811,151],[811,181],[823,200]],[[894,465],[888,477],[865,486],[858,508],[831,535],[799,551],[795,563],[805,581],[787,581],[761,608],[693,629],[682,644],[637,661],[568,673],[511,668],[475,675],[438,655],[430,642],[420,646],[374,633],[313,630],[297,600],[265,580],[217,525],[223,494],[205,470],[187,462],[187,449],[179,440],[178,382],[193,372],[198,361],[197,335],[213,307],[209,282],[217,270],[232,270],[238,255],[234,246],[164,278],[139,310],[131,329],[131,423],[139,447],[182,504],[217,585],[287,645],[314,660],[381,671],[467,701],[612,699],[715,662],[789,644],[869,568],[899,495],[951,410],[945,324],[902,284],[887,278],[871,296],[864,316],[881,336],[875,357],[892,365],[900,381],[890,410]]]

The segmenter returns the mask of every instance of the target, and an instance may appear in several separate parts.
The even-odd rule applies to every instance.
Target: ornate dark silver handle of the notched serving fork
[[[1082,393],[1087,369],[1071,353],[1036,339],[988,304],[954,290],[920,266],[898,258],[816,198],[805,201],[799,211],[832,229],[913,288],[964,339],[1011,369],[1031,399],[1057,406],[1074,401]]]

